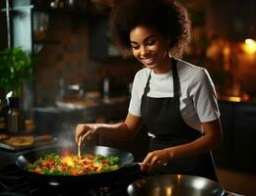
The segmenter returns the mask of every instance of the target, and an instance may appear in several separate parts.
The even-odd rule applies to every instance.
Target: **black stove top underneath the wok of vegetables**
[[[143,176],[136,173],[121,173],[115,180],[97,184],[45,184],[33,182],[15,164],[0,171],[0,196],[126,196],[127,186]]]

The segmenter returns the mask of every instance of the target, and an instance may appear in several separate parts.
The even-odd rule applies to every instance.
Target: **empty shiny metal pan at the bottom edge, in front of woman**
[[[129,196],[223,196],[216,181],[192,175],[164,174],[139,179],[127,187]]]

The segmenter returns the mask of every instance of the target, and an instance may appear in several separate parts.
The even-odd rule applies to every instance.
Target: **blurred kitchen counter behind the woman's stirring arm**
[[[104,100],[63,100],[56,106],[33,109],[35,130],[39,133],[58,134],[74,128],[78,123],[108,123],[126,118],[129,98]]]

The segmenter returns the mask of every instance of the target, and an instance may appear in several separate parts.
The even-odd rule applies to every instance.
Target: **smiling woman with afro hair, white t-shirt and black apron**
[[[112,40],[145,68],[135,75],[125,122],[78,124],[77,142],[96,131],[129,137],[145,123],[151,142],[142,172],[217,180],[211,150],[220,145],[222,128],[215,87],[205,69],[178,59],[189,26],[186,10],[172,0],[125,0],[113,9]]]

